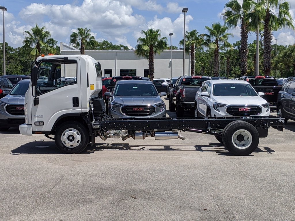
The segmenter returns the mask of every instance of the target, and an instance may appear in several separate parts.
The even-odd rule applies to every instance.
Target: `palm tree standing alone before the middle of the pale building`
[[[135,55],[138,57],[145,57],[148,59],[148,67],[150,72],[150,80],[154,79],[154,55],[163,50],[168,49],[168,42],[166,37],[161,37],[160,29],[148,29],[147,31],[141,31],[145,37],[137,39],[137,45],[135,47]]]

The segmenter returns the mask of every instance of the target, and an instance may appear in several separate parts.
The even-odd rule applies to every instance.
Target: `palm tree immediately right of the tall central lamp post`
[[[185,35],[185,44],[186,44],[186,52],[187,47],[191,51],[191,75],[195,74],[195,49],[201,47],[205,40],[202,34],[199,34],[196,30],[192,30],[191,32],[186,31]],[[183,45],[183,39],[180,40],[179,46]]]

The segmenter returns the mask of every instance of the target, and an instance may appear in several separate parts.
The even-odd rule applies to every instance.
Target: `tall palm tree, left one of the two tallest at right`
[[[241,74],[247,74],[247,46],[248,46],[248,24],[250,19],[246,17],[248,12],[251,10],[251,1],[244,0],[242,5],[237,0],[230,0],[225,4],[225,12],[222,14],[225,20],[225,24],[230,28],[236,28],[240,24],[241,32],[241,48],[240,48],[240,58],[241,58]]]

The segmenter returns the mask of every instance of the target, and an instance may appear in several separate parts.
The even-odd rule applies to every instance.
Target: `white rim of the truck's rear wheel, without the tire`
[[[252,135],[247,130],[237,130],[232,135],[232,144],[238,149],[246,149],[252,144]]]

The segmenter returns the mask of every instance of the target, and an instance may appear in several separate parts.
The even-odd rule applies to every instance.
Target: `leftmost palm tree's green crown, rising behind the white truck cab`
[[[24,31],[24,41],[23,45],[26,48],[33,47],[30,51],[30,55],[36,58],[41,55],[42,49],[45,49],[48,53],[54,53],[55,50],[52,46],[46,44],[45,42],[51,38],[50,32],[45,31],[45,27],[38,27],[36,24],[35,27],[32,27],[29,31]]]

